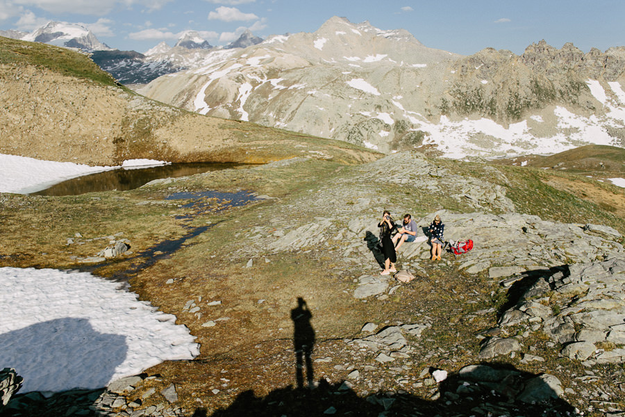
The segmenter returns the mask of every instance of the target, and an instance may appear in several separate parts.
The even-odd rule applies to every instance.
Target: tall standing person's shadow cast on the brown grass
[[[293,320],[293,345],[295,350],[295,380],[297,388],[304,388],[303,367],[306,363],[306,382],[308,387],[315,384],[313,371],[313,348],[315,347],[315,329],[310,324],[313,313],[302,297],[297,298],[297,307],[291,310]]]

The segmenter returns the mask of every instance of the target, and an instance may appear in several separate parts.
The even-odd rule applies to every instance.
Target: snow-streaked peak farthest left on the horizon
[[[53,44],[57,47],[78,48],[88,52],[111,50],[85,26],[67,22],[48,22],[21,39]]]

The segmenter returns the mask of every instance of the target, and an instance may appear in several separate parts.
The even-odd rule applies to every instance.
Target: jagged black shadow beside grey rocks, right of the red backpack
[[[553,290],[553,282],[556,279],[566,278],[569,275],[571,275],[569,265],[523,272],[519,279],[508,288],[508,301],[497,312],[497,319],[519,302],[530,300],[539,295],[538,293]]]

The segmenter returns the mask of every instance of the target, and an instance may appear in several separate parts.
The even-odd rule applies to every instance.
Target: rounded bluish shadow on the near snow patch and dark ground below
[[[15,368],[24,378],[0,416],[90,411],[127,352],[126,336],[99,333],[86,318],[59,318],[0,334],[0,366]],[[55,394],[43,395],[46,391]]]

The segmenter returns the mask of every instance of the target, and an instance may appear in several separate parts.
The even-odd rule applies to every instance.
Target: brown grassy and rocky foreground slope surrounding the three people
[[[619,295],[625,225],[597,204],[530,186],[535,174],[543,184],[555,174],[574,179],[399,152],[351,167],[293,158],[153,181],[121,195],[99,193],[98,200],[87,195],[102,211],[108,201],[121,210],[140,208],[136,226],[144,216],[146,224],[160,218],[150,211],[168,212],[148,234],[157,227],[176,241],[193,236],[142,268],[132,266],[140,255],[126,254],[114,266],[90,268],[128,274],[133,291],[190,328],[201,355],[106,390],[50,399],[18,394],[4,414],[618,416],[625,409]],[[263,199],[225,212],[194,197],[159,204],[178,191],[207,187],[251,189]],[[539,204],[530,205],[522,190]],[[549,195],[558,196],[557,210]],[[74,199],[6,196],[4,234],[12,233],[11,219],[34,216],[36,225],[46,211],[76,207]],[[16,206],[21,213],[10,215]],[[475,248],[432,262],[426,242],[406,243],[398,270],[415,279],[402,284],[383,277],[376,222],[385,208],[396,218],[412,213],[421,227],[440,214],[447,239],[472,238]],[[99,210],[76,213],[85,209]],[[185,216],[192,220],[176,226]],[[192,232],[206,222],[213,227]],[[129,230],[127,221],[98,224],[100,234],[82,220],[60,223],[85,238],[124,231],[136,254],[161,240],[135,238],[138,229]],[[46,258],[65,268],[85,268],[74,263],[76,256],[101,250],[67,247],[61,229],[44,236],[32,250],[65,247],[72,254]],[[22,247],[3,263],[32,265],[38,256],[30,251]],[[312,315],[315,347],[303,370],[312,390],[299,388],[296,377],[297,297]]]

